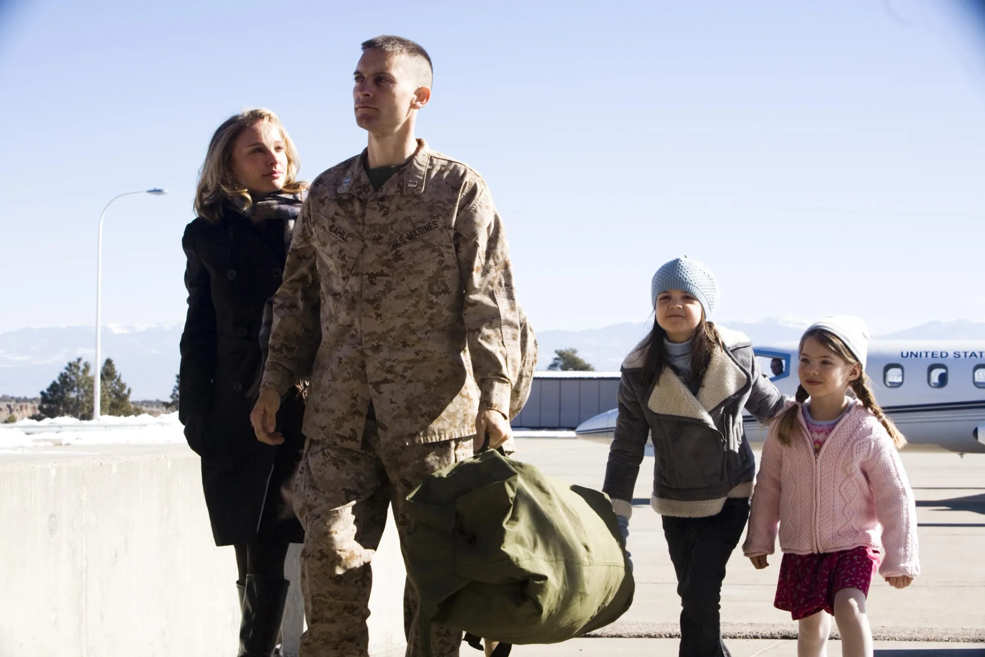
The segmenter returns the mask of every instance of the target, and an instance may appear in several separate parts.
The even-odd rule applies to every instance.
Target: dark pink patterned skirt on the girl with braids
[[[821,555],[783,555],[773,606],[790,612],[794,621],[821,610],[834,614],[834,594],[853,588],[869,595],[882,557],[872,548],[853,548]]]

